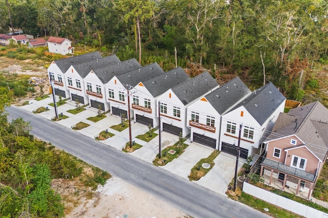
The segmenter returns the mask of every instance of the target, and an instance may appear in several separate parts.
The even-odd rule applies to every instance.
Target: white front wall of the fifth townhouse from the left
[[[142,83],[139,83],[138,85],[136,85],[132,90],[131,90],[132,94],[132,98],[130,99],[130,106],[132,108],[132,103],[133,103],[133,95],[134,96],[138,96],[139,97],[139,105],[140,106],[145,106],[145,99],[149,99],[150,100],[150,107],[152,109],[152,113],[147,113],[144,111],[139,111],[136,109],[133,109],[133,113],[134,113],[134,119],[136,119],[136,115],[140,115],[140,116],[145,116],[147,118],[151,118],[153,119],[153,126],[158,126],[158,105],[156,104],[156,99],[152,96],[152,94],[150,94],[150,92],[147,90],[147,88],[145,86],[142,85]]]

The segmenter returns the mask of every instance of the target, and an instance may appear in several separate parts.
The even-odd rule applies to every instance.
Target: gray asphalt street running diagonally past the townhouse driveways
[[[35,137],[51,142],[52,145],[108,171],[112,176],[153,194],[193,217],[269,217],[22,108],[10,106],[6,110],[9,121],[18,117],[29,121],[33,126],[31,134]]]

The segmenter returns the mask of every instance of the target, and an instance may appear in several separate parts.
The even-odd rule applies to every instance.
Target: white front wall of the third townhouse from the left
[[[74,81],[73,81],[74,82]],[[91,106],[91,100],[100,102],[100,103],[104,103],[105,105],[105,111],[109,111],[109,104],[106,101],[106,89],[105,89],[105,84],[103,84],[103,82],[100,81],[100,79],[97,77],[97,75],[91,71],[85,78],[84,80],[81,80],[81,83],[84,83],[84,92],[87,96],[87,98],[89,98],[89,105]],[[92,92],[97,93],[96,90],[96,85],[99,85],[101,88],[101,94],[103,94],[103,98],[99,98],[93,95],[88,95],[87,94],[87,83],[91,83],[92,86]],[[81,86],[82,87],[82,86]]]

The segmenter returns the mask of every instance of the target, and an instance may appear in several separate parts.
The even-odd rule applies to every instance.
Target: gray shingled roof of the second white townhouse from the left
[[[82,78],[85,78],[88,75],[88,73],[90,73],[90,71],[94,69],[103,68],[118,62],[120,62],[120,60],[116,55],[110,55],[107,57],[103,57],[95,60],[93,59],[83,63],[73,64],[73,67]]]

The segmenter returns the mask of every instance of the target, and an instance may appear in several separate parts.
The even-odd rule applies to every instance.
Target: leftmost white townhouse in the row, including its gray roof
[[[55,94],[58,96],[60,95],[63,98],[70,98],[70,93],[67,88],[67,79],[65,78],[65,73],[67,70],[71,67],[72,64],[83,63],[99,58],[101,58],[99,52],[91,52],[83,55],[52,61],[48,68],[48,76],[49,81],[54,82]],[[76,84],[76,88],[81,89],[83,80],[76,79],[72,82]]]

